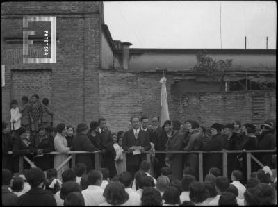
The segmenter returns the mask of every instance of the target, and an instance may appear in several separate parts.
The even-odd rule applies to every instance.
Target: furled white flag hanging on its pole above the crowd
[[[167,101],[167,90],[166,90],[166,78],[163,77],[159,82],[161,85],[161,126],[169,118],[168,101]]]

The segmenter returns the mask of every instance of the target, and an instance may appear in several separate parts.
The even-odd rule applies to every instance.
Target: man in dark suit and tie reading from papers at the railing
[[[124,151],[134,151],[133,146],[140,146],[140,151],[148,151],[151,149],[149,141],[149,134],[140,129],[139,117],[131,118],[132,129],[124,133],[124,139],[122,140],[122,149]],[[126,154],[126,170],[131,173],[134,178],[134,174],[139,170],[142,160],[146,160],[146,154],[133,155],[132,153]]]

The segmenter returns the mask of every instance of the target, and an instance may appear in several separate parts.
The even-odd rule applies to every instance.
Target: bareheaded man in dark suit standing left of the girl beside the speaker
[[[109,169],[109,178],[112,179],[116,174],[115,157],[116,152],[113,147],[111,131],[107,129],[106,119],[99,118],[99,149],[102,151],[103,166]]]

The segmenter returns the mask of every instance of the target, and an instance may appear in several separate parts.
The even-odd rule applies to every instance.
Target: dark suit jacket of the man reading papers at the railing
[[[129,147],[141,146],[145,151],[151,149],[151,142],[149,141],[149,134],[145,131],[139,130],[138,138],[135,138],[133,129],[124,133],[122,140],[122,149],[127,151]],[[132,153],[126,154],[126,165],[140,165],[142,160],[146,159],[146,154],[133,155]]]

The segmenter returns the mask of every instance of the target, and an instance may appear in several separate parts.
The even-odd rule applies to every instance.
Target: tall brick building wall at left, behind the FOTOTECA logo
[[[33,84],[31,81],[26,83],[24,78],[17,78],[17,88],[15,88],[11,80],[13,71],[40,71],[44,69],[51,72],[49,98],[56,114],[74,125],[98,117],[97,69],[99,69],[100,58],[100,8],[101,3],[93,1],[7,2],[2,4],[1,51],[2,64],[6,65],[6,86],[2,88],[3,120],[9,122],[12,94],[18,94],[19,97],[25,93],[25,90],[19,91],[21,85],[30,87]],[[57,17],[56,64],[22,63],[23,15]],[[39,28],[43,28],[43,24],[40,24]],[[6,38],[11,37],[17,38],[18,41],[7,42]],[[31,48],[31,46],[29,47]],[[32,47],[34,51],[38,51],[36,45]],[[47,76],[44,77],[47,78]],[[31,77],[34,78],[35,76],[31,74]],[[42,81],[40,88],[31,92],[40,95],[44,87],[44,81]],[[13,88],[16,91],[12,93]],[[20,102],[20,100],[17,101]],[[56,115],[54,116],[54,124],[58,124],[58,122],[65,122],[65,120]],[[69,123],[66,122],[66,124]]]

